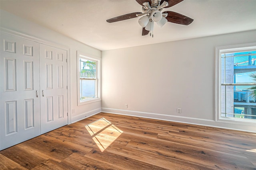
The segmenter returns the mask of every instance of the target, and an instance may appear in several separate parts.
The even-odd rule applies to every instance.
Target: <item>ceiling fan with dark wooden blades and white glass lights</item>
[[[142,16],[138,22],[142,26],[142,35],[148,35],[153,37],[154,22],[158,26],[162,27],[167,21],[172,23],[178,23],[182,25],[189,25],[194,20],[182,14],[172,11],[164,11],[163,8],[169,8],[174,6],[183,0],[136,0],[142,6],[142,12],[133,12],[122,16],[117,16],[106,20],[108,23],[128,20]]]

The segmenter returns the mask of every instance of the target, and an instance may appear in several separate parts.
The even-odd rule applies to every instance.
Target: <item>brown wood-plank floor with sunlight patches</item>
[[[0,169],[256,170],[256,133],[99,113],[0,151]]]

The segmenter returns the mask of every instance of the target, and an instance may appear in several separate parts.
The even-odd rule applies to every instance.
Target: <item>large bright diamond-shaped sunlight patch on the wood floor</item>
[[[118,127],[102,117],[85,126],[101,152],[107,149],[122,133]]]

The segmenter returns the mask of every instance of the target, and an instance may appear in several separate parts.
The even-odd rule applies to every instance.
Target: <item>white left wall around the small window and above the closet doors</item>
[[[101,57],[101,51],[82,44],[74,39],[68,38],[64,35],[56,33],[50,29],[24,20],[18,16],[10,14],[4,10],[0,10],[0,26],[1,31],[9,29],[25,35],[38,38],[38,41],[47,41],[49,45],[58,45],[64,47],[69,51],[69,65],[70,65],[70,112],[74,111],[71,115],[72,122],[85,118],[101,111],[101,102],[94,102],[77,106],[77,50],[88,57]],[[3,29],[4,28],[4,29]]]

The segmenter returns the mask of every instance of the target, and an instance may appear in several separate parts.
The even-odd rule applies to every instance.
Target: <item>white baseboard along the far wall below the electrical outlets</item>
[[[218,127],[218,128],[224,128],[224,129],[232,129],[232,130],[256,133],[256,126],[244,125],[244,124],[238,124],[238,123],[232,123],[232,122],[215,121],[215,120],[209,120],[209,119],[199,119],[199,118],[183,117],[183,116],[176,116],[176,115],[164,115],[159,113],[148,113],[148,112],[141,112],[141,111],[112,109],[112,108],[104,108],[104,107],[101,108],[101,111],[106,113],[120,114],[120,115],[129,115],[129,116],[144,117],[144,118],[150,118],[150,119],[174,121],[174,122],[188,123],[193,125]]]

